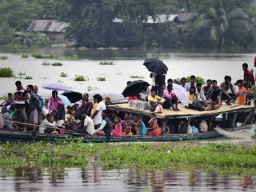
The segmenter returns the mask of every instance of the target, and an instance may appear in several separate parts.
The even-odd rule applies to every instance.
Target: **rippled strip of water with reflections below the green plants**
[[[0,191],[255,191],[255,176],[190,172],[106,170],[52,166],[2,167]],[[10,176],[11,175],[11,176]]]

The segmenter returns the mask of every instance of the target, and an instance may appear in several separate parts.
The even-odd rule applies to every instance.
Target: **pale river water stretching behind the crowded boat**
[[[51,50],[51,52],[63,56],[74,54],[74,50]],[[143,51],[143,50],[87,50],[78,51],[79,60],[53,60],[21,58],[20,54],[1,54],[8,56],[7,60],[0,61],[0,67],[11,67],[17,77],[20,72],[31,76],[32,80],[21,79],[23,85],[37,85],[39,92],[50,95],[50,90],[43,90],[46,83],[60,82],[70,88],[81,92],[104,93],[122,98],[122,90],[126,82],[134,80],[131,75],[143,77],[150,82],[149,71],[142,65],[145,58],[161,58],[169,67],[166,78],[182,78],[191,74],[202,78],[217,79],[222,82],[226,74],[230,74],[233,82],[243,77],[242,63],[247,62],[253,68],[254,54],[180,54],[168,51]],[[98,63],[102,60],[114,61],[113,66],[102,66]],[[42,62],[62,62],[63,66],[42,66]],[[68,77],[61,78],[64,72]],[[86,82],[75,82],[75,75],[83,75],[88,78]],[[97,78],[106,78],[99,82]],[[24,76],[23,76],[24,78]],[[0,96],[15,89],[14,82],[18,78],[1,78]]]

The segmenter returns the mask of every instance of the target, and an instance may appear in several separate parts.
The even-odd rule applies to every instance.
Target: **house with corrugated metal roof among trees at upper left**
[[[56,20],[35,20],[27,28],[27,32],[39,32],[46,34],[52,44],[70,44],[66,39],[66,28],[70,26],[68,22],[58,22]]]

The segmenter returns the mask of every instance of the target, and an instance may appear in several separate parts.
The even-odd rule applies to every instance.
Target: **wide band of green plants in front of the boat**
[[[107,169],[202,170],[223,175],[256,174],[256,148],[222,144],[91,144],[82,142],[6,143],[0,167],[86,167]],[[95,161],[97,159],[97,161]]]

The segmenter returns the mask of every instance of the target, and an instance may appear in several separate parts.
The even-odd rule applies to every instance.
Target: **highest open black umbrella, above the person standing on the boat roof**
[[[145,59],[143,65],[146,66],[149,71],[156,74],[166,74],[168,70],[166,64],[164,64],[162,60],[159,60],[157,58],[147,58]]]

